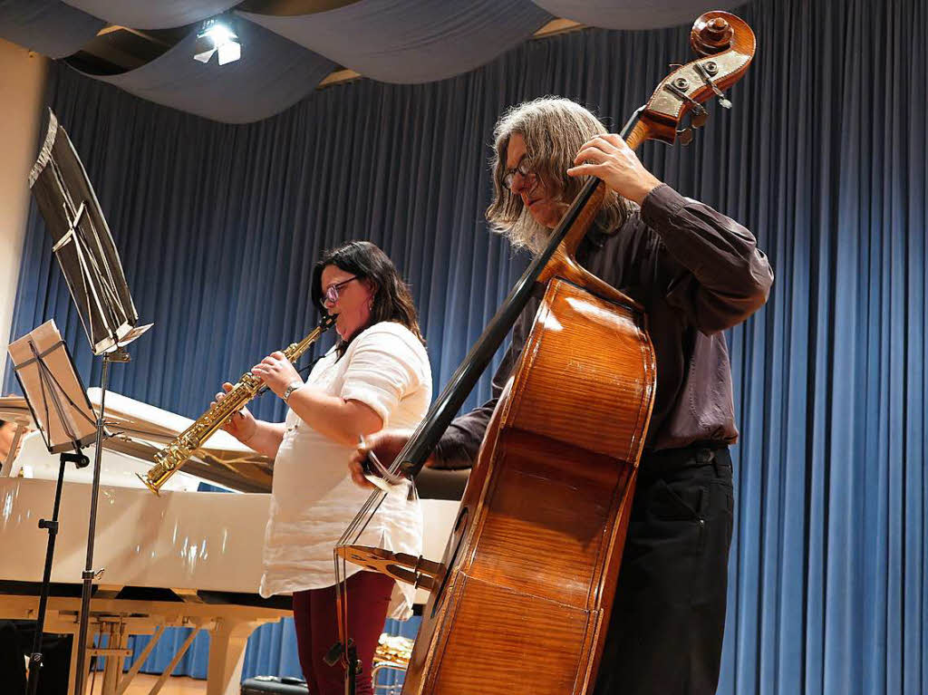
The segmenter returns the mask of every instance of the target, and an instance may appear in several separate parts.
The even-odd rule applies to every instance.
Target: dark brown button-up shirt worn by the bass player
[[[738,438],[726,328],[754,314],[773,282],[767,256],[743,226],[669,186],[651,191],[613,234],[587,236],[577,261],[638,300],[657,355],[657,393],[647,448]],[[493,398],[455,419],[436,448],[438,466],[470,466],[522,346],[540,297],[512,329]]]

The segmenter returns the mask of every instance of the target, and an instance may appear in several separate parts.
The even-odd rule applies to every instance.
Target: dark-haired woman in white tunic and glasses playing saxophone
[[[260,591],[265,597],[292,592],[310,692],[338,695],[342,666],[323,661],[338,639],[332,547],[367,499],[351,482],[347,464],[361,437],[388,424],[419,423],[432,399],[432,372],[409,290],[377,246],[353,241],[326,253],[316,264],[312,291],[325,312],[337,315],[339,342],[305,381],[284,354],[265,357],[251,373],[287,403],[286,420],[265,422],[242,409],[224,429],[275,459]],[[223,395],[217,393],[217,401]],[[418,503],[389,496],[366,534],[367,545],[419,555]],[[367,666],[393,594],[393,617],[411,614],[412,586],[394,585],[386,575],[357,567],[348,579],[349,627]],[[365,672],[358,695],[371,692]]]

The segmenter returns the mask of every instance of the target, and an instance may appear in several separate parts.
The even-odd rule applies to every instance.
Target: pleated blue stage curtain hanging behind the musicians
[[[728,334],[741,442],[719,692],[920,695],[928,9],[742,10],[759,50],[733,111],[713,108],[690,148],[643,148],[655,174],[754,230],[777,275],[767,307]],[[410,279],[444,385],[525,262],[483,222],[496,117],[556,93],[617,130],[687,59],[687,34],[576,32],[444,82],[342,85],[247,126],[54,71],[49,103],[155,322],[113,388],[198,415],[222,380],[312,325],[311,265],[345,238],[374,240]],[[33,211],[13,334],[54,316],[96,382],[54,265]],[[469,405],[487,393],[484,378]],[[283,412],[273,397],[256,409]],[[256,671],[284,668],[263,650]]]

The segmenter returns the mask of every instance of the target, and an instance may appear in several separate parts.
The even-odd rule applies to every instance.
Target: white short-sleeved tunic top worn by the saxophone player
[[[307,382],[329,395],[368,405],[383,419],[384,428],[415,427],[432,400],[432,370],[425,347],[408,328],[390,321],[362,331],[342,359],[334,350],[329,352],[313,367]],[[354,449],[333,442],[288,410],[274,461],[262,596],[335,584],[333,548],[370,495],[352,483],[348,473]],[[387,496],[357,543],[420,555],[419,500]],[[347,564],[349,576],[360,570]],[[415,589],[407,584],[398,588],[391,614],[406,618]]]

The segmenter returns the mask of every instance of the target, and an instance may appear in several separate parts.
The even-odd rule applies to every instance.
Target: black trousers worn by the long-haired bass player
[[[596,695],[714,695],[733,510],[728,448],[641,458]]]

